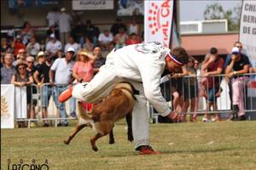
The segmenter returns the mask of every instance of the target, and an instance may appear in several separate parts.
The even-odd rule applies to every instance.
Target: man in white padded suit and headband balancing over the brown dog
[[[172,53],[160,42],[140,43],[126,46],[108,54],[105,65],[88,84],[80,83],[59,97],[64,102],[71,94],[74,98],[95,103],[108,95],[116,82],[131,82],[140,95],[132,113],[132,133],[136,150],[143,155],[155,155],[149,145],[149,122],[146,99],[161,116],[174,119],[166,99],[160,92],[160,78],[165,69],[176,71],[188,61],[184,48],[174,48]]]

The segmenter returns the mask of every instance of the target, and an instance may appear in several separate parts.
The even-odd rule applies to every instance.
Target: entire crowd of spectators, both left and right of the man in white
[[[52,8],[47,15],[49,30],[45,32],[47,37],[38,42],[37,35],[32,29],[31,23],[26,21],[22,30],[15,37],[2,37],[1,39],[1,84],[14,84],[15,87],[27,87],[27,118],[34,119],[36,102],[32,100],[32,94],[36,90],[29,87],[36,84],[41,91],[42,117],[44,127],[49,127],[48,105],[50,96],[60,112],[61,121],[58,126],[68,126],[65,104],[58,101],[57,97],[68,85],[78,82],[90,82],[105,64],[106,56],[113,48],[122,48],[126,45],[143,42],[142,31],[136,18],[125,25],[117,19],[110,30],[102,32],[94,26],[90,20],[84,24],[81,20],[74,22],[66,8]],[[230,84],[230,99],[232,114],[230,120],[235,118],[245,119],[243,88],[248,77],[242,74],[255,72],[245,54],[241,53],[241,42],[235,42],[232,54],[227,59],[218,55],[217,48],[211,48],[205,60],[199,65],[199,61],[193,57],[177,73],[168,75],[171,78],[170,89],[172,95],[173,111],[179,113],[178,122],[186,122],[186,113],[190,108],[195,114],[190,116],[190,121],[197,119],[199,97],[207,100],[207,111],[211,108],[216,111],[213,118],[205,114],[203,122],[216,122],[219,120],[217,98],[221,94],[219,77],[226,74]],[[190,76],[189,78],[185,78]],[[202,76],[202,77],[201,77]],[[44,84],[47,84],[44,85]],[[70,115],[76,116],[75,99],[70,99]],[[36,126],[31,122],[31,126]],[[24,127],[25,122],[18,123]]]

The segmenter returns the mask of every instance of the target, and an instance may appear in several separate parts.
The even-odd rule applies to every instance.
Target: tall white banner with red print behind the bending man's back
[[[144,40],[163,42],[169,47],[172,31],[173,1],[144,2]]]

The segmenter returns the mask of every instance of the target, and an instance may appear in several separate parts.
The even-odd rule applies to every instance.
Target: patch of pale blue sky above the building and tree
[[[204,20],[207,5],[216,2],[225,10],[241,5],[241,0],[180,0],[180,20]]]

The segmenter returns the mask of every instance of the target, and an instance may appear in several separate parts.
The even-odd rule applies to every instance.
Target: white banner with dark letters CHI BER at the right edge
[[[256,67],[256,1],[245,0],[241,9],[239,39],[253,67]]]

